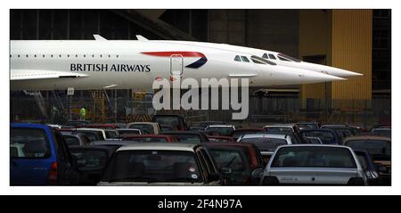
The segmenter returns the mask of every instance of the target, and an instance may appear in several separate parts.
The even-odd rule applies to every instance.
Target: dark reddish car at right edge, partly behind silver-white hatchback
[[[385,136],[356,135],[344,140],[343,145],[354,150],[366,150],[372,156],[383,182],[391,179],[391,139]]]

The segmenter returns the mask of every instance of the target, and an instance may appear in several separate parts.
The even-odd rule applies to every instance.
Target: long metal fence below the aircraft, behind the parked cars
[[[391,122],[390,97],[373,98],[372,100],[330,100],[307,99],[297,97],[250,96],[249,117],[245,120],[232,120],[233,111],[199,110],[199,111],[154,111],[151,96],[145,95],[135,100],[131,90],[110,90],[104,92],[103,106],[94,106],[94,94],[91,91],[76,91],[68,96],[64,92],[42,92],[47,116],[44,116],[34,97],[22,92],[12,92],[10,97],[10,119],[43,120],[61,122],[67,119],[78,119],[78,109],[85,107],[89,120],[95,114],[104,113],[104,120],[97,122],[125,122],[136,114],[174,113],[181,114],[191,121],[222,120],[233,123],[252,124],[266,122],[296,122],[315,120],[323,123],[353,123],[365,127],[377,123]],[[56,118],[58,117],[58,118]]]

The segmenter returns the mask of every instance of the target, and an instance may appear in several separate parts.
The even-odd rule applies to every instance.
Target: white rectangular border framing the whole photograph
[[[10,8],[250,8],[250,9],[334,9],[334,8],[391,8],[392,9],[392,58],[398,59],[400,44],[397,40],[400,37],[400,6],[397,1],[389,0],[364,0],[364,1],[349,1],[349,0],[304,0],[304,1],[127,1],[127,3],[119,3],[118,1],[3,1],[3,7],[0,12],[0,21],[3,26],[1,34],[1,66],[2,66],[2,83],[0,84],[0,94],[3,104],[0,104],[0,118],[2,125],[1,133],[3,142],[1,142],[0,155],[0,193],[1,194],[398,194],[400,193],[400,157],[397,152],[401,152],[399,143],[400,136],[397,133],[401,132],[399,120],[401,116],[397,109],[401,109],[397,94],[400,94],[400,86],[392,85],[392,93],[396,94],[393,98],[393,185],[391,187],[10,187],[9,186],[9,9]],[[401,80],[400,66],[398,63],[392,63],[392,79]]]

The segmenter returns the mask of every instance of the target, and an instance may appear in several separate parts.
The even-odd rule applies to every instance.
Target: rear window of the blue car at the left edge
[[[26,127],[11,128],[11,158],[46,159],[50,156],[50,143],[44,129]]]

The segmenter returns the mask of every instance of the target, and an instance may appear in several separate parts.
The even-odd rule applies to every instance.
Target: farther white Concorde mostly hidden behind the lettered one
[[[148,40],[145,37],[142,37],[139,35],[136,37],[138,38],[138,40],[142,40],[142,41]],[[242,52],[242,53],[250,53],[250,54],[255,54],[259,57],[262,57],[266,60],[273,61],[277,65],[311,70],[311,71],[315,71],[315,72],[329,74],[331,76],[337,76],[340,78],[363,76],[363,74],[349,71],[349,70],[343,70],[340,68],[325,66],[322,64],[300,61],[299,59],[293,58],[293,57],[283,54],[283,53],[278,53],[278,52],[269,51],[269,50],[262,50],[262,49],[257,49],[257,48],[250,48],[250,47],[245,47],[245,46],[206,43],[206,42],[192,42],[192,41],[174,41],[174,40],[151,40],[151,42],[205,46],[205,47],[219,48],[219,49],[223,49],[223,50],[232,50],[232,51],[237,51],[237,52]]]

